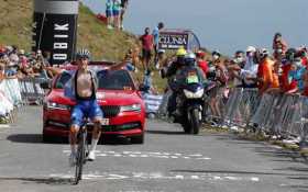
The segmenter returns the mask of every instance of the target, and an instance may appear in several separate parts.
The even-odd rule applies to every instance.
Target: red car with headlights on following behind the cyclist
[[[111,64],[111,63],[110,63]],[[139,89],[128,70],[109,70],[99,76],[109,63],[92,63],[89,68],[98,74],[98,103],[103,112],[103,135],[118,135],[131,138],[133,144],[143,144],[145,106]],[[43,106],[43,142],[54,137],[67,137],[70,110],[75,103],[64,95],[64,84],[77,67],[69,65],[54,78]],[[90,126],[91,128],[91,126]]]

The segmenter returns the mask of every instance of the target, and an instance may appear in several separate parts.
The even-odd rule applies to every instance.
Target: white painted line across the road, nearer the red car
[[[69,149],[63,149],[64,154],[69,155]],[[97,157],[121,157],[121,158],[160,158],[160,159],[191,159],[191,160],[211,160],[201,154],[178,154],[178,153],[156,153],[156,151],[101,151],[96,150]]]

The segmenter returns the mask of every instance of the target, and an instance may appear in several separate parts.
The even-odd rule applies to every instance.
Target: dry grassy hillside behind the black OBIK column
[[[0,45],[18,45],[31,49],[33,0],[0,0]],[[120,60],[136,46],[134,35],[107,30],[96,15],[80,4],[78,47],[88,47],[95,59]]]

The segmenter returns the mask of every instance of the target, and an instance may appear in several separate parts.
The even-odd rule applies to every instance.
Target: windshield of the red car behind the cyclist
[[[97,71],[98,88],[106,90],[133,90],[134,83],[127,70]],[[70,72],[63,72],[56,83],[55,89],[64,89],[66,82],[72,78]]]

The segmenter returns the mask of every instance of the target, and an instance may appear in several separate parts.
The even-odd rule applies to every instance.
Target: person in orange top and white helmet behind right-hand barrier
[[[257,87],[258,93],[263,94],[267,89],[273,87],[273,67],[274,61],[268,57],[270,53],[267,49],[262,48],[257,52],[257,59],[260,65],[257,68]]]

